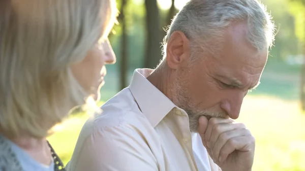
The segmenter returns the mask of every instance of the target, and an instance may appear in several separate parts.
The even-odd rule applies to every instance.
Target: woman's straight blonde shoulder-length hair
[[[44,137],[88,96],[71,73],[116,21],[112,0],[0,1],[0,126]]]

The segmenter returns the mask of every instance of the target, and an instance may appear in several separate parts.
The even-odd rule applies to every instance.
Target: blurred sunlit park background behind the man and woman
[[[130,83],[137,68],[159,63],[161,42],[173,16],[188,0],[117,0],[119,24],[109,35],[117,62],[107,66],[101,102]],[[275,46],[260,86],[244,100],[238,122],[256,138],[254,171],[305,170],[305,0],[261,0],[277,25]],[[89,116],[77,113],[49,141],[65,163]]]

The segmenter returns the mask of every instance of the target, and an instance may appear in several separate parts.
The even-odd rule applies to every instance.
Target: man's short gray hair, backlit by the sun
[[[257,0],[191,0],[174,17],[163,41],[164,49],[172,33],[182,31],[191,46],[215,51],[217,47],[212,45],[218,44],[216,40],[222,38],[225,28],[233,22],[247,21],[247,39],[261,51],[271,47],[275,39],[271,19]]]

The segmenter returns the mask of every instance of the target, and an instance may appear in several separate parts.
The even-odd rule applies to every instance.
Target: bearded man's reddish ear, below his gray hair
[[[166,46],[166,61],[170,69],[188,66],[190,58],[189,39],[182,31],[174,31]]]

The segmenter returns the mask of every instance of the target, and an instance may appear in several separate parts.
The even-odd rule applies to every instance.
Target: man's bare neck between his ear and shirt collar
[[[160,71],[162,70],[162,72]],[[147,77],[147,80],[157,87],[170,100],[173,100],[173,72],[164,66],[158,68]]]

